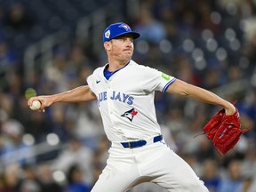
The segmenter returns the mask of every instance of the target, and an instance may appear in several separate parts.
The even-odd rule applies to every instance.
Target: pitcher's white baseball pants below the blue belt
[[[192,168],[163,141],[140,148],[112,143],[107,166],[92,192],[124,192],[141,182],[153,182],[172,192],[208,192]]]

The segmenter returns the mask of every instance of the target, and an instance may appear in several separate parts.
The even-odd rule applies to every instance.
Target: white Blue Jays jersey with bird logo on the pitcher
[[[96,95],[104,131],[110,141],[140,140],[161,134],[155,92],[165,92],[176,78],[133,60],[110,78],[96,68],[87,83]]]

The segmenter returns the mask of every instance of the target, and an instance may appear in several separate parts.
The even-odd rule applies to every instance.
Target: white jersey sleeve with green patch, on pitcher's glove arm
[[[144,92],[165,92],[176,78],[164,74],[156,68],[145,67],[142,72],[142,87]]]

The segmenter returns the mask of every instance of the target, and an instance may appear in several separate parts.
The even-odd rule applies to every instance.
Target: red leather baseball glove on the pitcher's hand
[[[204,133],[207,138],[212,140],[217,151],[224,155],[231,148],[234,148],[241,134],[247,132],[249,128],[241,130],[240,116],[236,108],[235,114],[225,115],[225,109],[222,108],[215,116],[204,126]]]

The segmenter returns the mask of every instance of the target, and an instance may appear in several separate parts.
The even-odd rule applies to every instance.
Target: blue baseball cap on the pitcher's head
[[[124,22],[113,23],[105,29],[103,33],[103,43],[110,41],[117,36],[123,36],[125,34],[131,34],[133,39],[140,37],[139,33],[132,31],[132,28]]]

